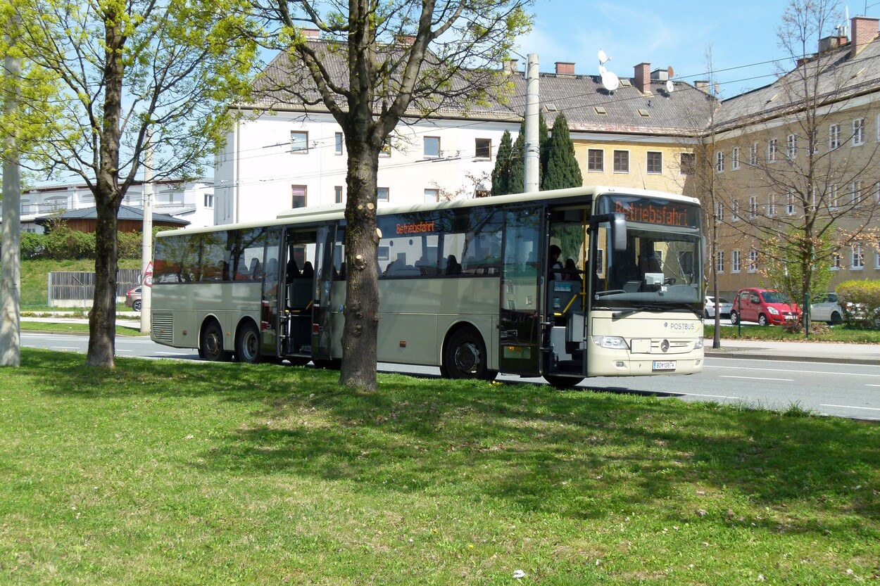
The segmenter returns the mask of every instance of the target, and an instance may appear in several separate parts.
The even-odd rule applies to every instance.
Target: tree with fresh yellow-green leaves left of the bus
[[[250,88],[256,46],[242,36],[245,0],[31,0],[17,5],[20,46],[59,79],[48,140],[23,149],[31,168],[66,172],[98,213],[95,297],[86,363],[113,367],[117,215],[154,148],[152,176],[202,172],[231,121],[226,104]],[[249,38],[249,37],[248,37]]]

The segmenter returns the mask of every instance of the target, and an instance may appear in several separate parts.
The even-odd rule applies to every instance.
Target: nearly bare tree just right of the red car
[[[865,73],[876,71],[878,48],[862,53],[869,43],[858,34],[847,44],[841,18],[833,0],[791,0],[778,36],[795,68],[725,102],[727,120],[716,125],[737,136],[750,170],[745,181],[725,177],[730,193],[748,197],[730,202],[740,221],[726,225],[760,243],[774,285],[798,301],[824,286],[815,269],[834,263],[841,246],[877,239],[880,206],[869,194],[880,179],[877,143],[866,133],[880,78]]]

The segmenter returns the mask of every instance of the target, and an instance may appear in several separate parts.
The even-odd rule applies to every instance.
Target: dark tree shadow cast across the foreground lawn
[[[88,369],[82,355],[28,351],[23,369],[55,395],[253,403],[250,421],[193,464],[208,473],[292,474],[570,518],[664,502],[658,510],[676,519],[880,533],[869,489],[880,480],[876,425],[547,385],[380,374],[379,392],[361,393],[312,368],[118,364]],[[731,515],[730,502],[742,509]]]

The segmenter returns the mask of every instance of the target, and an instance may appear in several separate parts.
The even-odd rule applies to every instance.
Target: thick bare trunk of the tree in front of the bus
[[[366,132],[358,133],[366,136]],[[345,207],[345,255],[348,266],[346,302],[342,314],[340,384],[376,390],[378,337],[378,235],[376,180],[378,156],[365,141],[348,146],[348,201]]]

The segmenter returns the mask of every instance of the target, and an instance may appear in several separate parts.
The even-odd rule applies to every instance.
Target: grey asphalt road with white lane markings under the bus
[[[21,334],[27,348],[84,353],[88,337],[74,334]],[[117,337],[116,355],[151,359],[198,360],[195,350],[156,344],[146,337]],[[279,367],[283,368],[283,367]],[[439,377],[439,370],[379,364],[379,370]],[[505,382],[543,383],[542,378],[501,376]],[[702,373],[685,377],[590,378],[584,389],[632,392],[686,401],[704,400],[746,407],[786,410],[796,406],[817,414],[880,421],[880,366],[759,360],[707,355]]]

